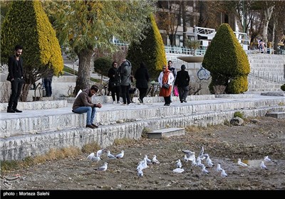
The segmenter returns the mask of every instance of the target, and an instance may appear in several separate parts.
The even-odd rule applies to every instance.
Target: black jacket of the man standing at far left
[[[15,55],[9,57],[8,70],[9,70],[9,74],[7,77],[8,81],[11,81],[12,79],[15,78],[22,79],[24,76],[23,59],[20,57],[19,61],[17,61]]]

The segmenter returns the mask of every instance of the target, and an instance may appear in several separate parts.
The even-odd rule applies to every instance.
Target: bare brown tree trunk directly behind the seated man
[[[90,82],[90,61],[93,55],[93,49],[84,49],[77,53],[79,58],[78,77],[73,95],[76,96],[79,90],[89,87]]]

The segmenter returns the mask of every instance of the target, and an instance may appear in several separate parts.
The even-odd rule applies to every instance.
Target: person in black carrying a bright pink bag
[[[177,72],[175,85],[178,87],[180,102],[187,102],[186,98],[189,92],[190,76],[188,71],[185,70],[185,65],[181,65],[181,70]]]

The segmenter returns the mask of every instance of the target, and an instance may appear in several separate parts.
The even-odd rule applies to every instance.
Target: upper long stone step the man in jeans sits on
[[[230,95],[229,95],[230,97]],[[51,101],[52,102],[52,101]],[[215,98],[211,100],[193,100],[187,103],[173,102],[170,107],[164,102],[135,104],[105,104],[96,109],[95,123],[101,125],[118,122],[142,121],[164,117],[182,117],[191,114],[203,114],[225,111],[244,111],[262,107],[285,107],[285,97],[259,96],[258,98]],[[37,134],[41,131],[61,130],[72,127],[85,127],[86,114],[71,112],[72,104],[56,109],[26,110],[22,113],[1,112],[0,137],[23,134]]]

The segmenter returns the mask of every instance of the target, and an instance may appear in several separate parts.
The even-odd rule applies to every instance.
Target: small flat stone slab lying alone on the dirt
[[[185,135],[185,128],[159,129],[147,133],[147,137],[150,139],[162,139],[162,137],[182,136],[182,135]]]

